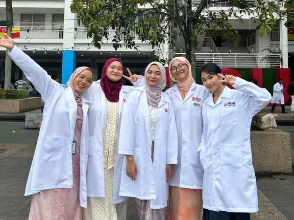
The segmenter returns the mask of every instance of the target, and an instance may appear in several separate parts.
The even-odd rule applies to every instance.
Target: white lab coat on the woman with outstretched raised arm
[[[73,187],[72,144],[77,104],[73,91],[47,74],[17,46],[10,57],[34,84],[45,101],[43,121],[28,175],[25,196],[42,190]],[[88,160],[89,101],[82,97],[83,125],[80,146],[80,205],[87,207],[86,166]]]

